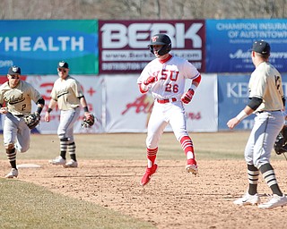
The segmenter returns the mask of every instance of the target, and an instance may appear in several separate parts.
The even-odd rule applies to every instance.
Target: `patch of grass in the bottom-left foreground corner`
[[[154,228],[108,208],[16,179],[0,179],[0,197],[0,228]]]

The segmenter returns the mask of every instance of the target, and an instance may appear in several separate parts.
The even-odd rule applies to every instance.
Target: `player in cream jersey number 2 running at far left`
[[[0,87],[0,114],[4,117],[4,148],[12,167],[6,178],[18,176],[16,154],[30,148],[30,128],[24,123],[23,116],[31,113],[31,100],[37,104],[40,114],[45,100],[28,82],[21,80],[21,68],[12,66],[8,70],[8,81]],[[4,106],[5,107],[2,107]]]

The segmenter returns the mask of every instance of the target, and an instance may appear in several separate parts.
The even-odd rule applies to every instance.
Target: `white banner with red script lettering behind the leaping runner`
[[[141,94],[136,83],[138,75],[105,77],[106,131],[143,132],[152,112],[150,93]],[[190,82],[187,82],[187,89]],[[208,93],[207,93],[208,92]],[[202,82],[190,104],[185,105],[188,131],[217,131],[216,75],[203,75]],[[172,131],[170,125],[165,131]]]

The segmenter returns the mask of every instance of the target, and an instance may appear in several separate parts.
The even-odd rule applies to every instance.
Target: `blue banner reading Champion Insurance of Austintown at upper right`
[[[206,72],[253,72],[251,47],[264,39],[269,62],[287,72],[287,20],[206,20]]]

